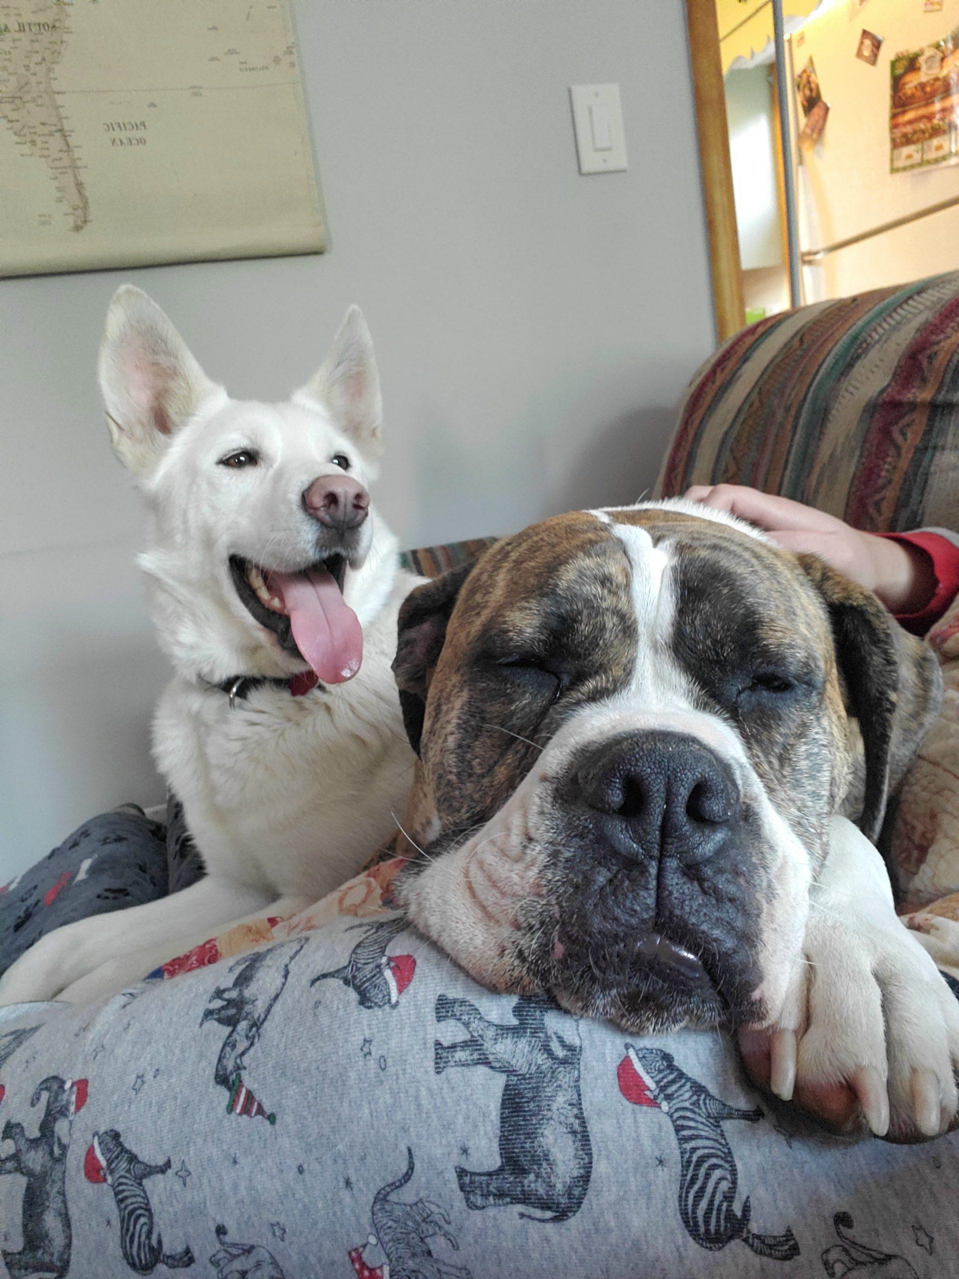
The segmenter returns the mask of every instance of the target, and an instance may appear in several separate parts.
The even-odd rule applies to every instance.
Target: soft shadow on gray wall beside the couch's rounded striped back
[[[652,496],[675,420],[674,407],[646,405],[597,431],[570,463],[550,509],[628,506]]]

